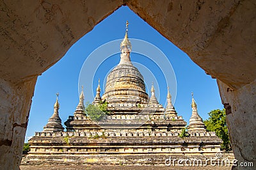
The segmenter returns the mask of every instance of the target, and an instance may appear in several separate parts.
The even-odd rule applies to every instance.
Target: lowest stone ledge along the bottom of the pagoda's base
[[[156,155],[154,153],[149,154],[113,154],[113,155],[70,155],[70,154],[60,154],[60,155],[27,155],[22,159],[22,164],[93,164],[93,165],[162,165],[165,166],[166,158],[172,159],[201,159],[205,163],[206,158],[214,158],[215,153],[209,154],[182,154],[182,153],[164,153],[161,155]],[[223,154],[223,158],[227,158]],[[228,157],[230,161],[234,159],[233,157]],[[230,166],[231,168],[231,166]]]

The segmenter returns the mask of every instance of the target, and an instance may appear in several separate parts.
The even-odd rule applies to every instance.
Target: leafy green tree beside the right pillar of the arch
[[[221,149],[225,151],[232,150],[229,136],[228,136],[228,128],[226,122],[226,111],[225,109],[213,110],[208,113],[210,118],[204,121],[206,129],[212,132],[215,132],[220,139],[222,139],[223,143],[221,144]]]

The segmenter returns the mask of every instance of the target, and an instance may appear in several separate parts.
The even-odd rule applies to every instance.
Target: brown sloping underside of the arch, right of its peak
[[[233,89],[256,79],[255,1],[129,1],[205,72]]]

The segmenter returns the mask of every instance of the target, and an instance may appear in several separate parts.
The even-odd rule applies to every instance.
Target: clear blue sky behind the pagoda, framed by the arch
[[[51,68],[38,77],[32,99],[25,142],[35,132],[43,130],[43,127],[53,113],[53,105],[56,101],[57,92],[60,93],[59,113],[62,123],[67,120],[69,115],[74,114],[79,101],[79,73],[84,61],[100,45],[124,38],[126,20],[129,20],[130,23],[129,38],[136,38],[152,43],[166,55],[172,64],[177,79],[177,97],[174,106],[179,116],[182,116],[185,121],[189,122],[191,116],[191,91],[194,93],[195,101],[198,105],[198,113],[202,116],[203,120],[209,117],[207,113],[211,110],[223,109],[216,79],[212,79],[211,76],[206,75],[204,70],[193,63],[186,53],[161,36],[153,27],[140,19],[127,6],[122,6],[109,17],[102,20],[92,31],[74,43],[58,63],[51,66]],[[119,48],[119,45],[117,45],[116,49]],[[111,68],[118,64],[120,60],[119,56],[120,54],[116,54],[106,59],[99,66],[93,80],[87,79],[83,82],[85,88],[84,95],[86,93],[92,93],[92,89],[86,89],[86,86],[93,82],[93,89],[95,89],[99,78],[102,80],[100,84],[101,89],[104,89],[103,80]],[[138,66],[139,70],[141,68],[141,73],[145,68],[147,68],[145,70],[154,72],[157,82],[160,84],[159,91],[156,92],[163,94],[160,97],[157,95],[157,97],[159,97],[159,102],[164,105],[166,102],[166,88],[161,87],[161,82],[164,81],[164,76],[161,75],[161,68],[159,71],[159,68],[157,68],[154,62],[150,62],[140,54],[132,53],[131,60],[136,62],[135,65]],[[150,76],[143,75],[143,77],[146,86],[150,87],[151,81],[148,82],[146,80],[146,77]],[[173,91],[175,90],[171,89],[171,93],[174,93]],[[101,92],[102,94],[103,91]]]

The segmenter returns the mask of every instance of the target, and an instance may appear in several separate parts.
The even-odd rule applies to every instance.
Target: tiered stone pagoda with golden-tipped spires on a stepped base
[[[83,88],[79,104],[65,121],[58,116],[58,97],[54,113],[42,132],[29,139],[29,163],[49,164],[164,164],[166,157],[206,158],[220,151],[221,139],[207,132],[192,97],[192,116],[188,132],[186,121],[178,116],[167,89],[167,106],[159,104],[154,84],[150,97],[138,68],[132,65],[132,45],[128,22],[120,43],[120,62],[108,74],[106,90],[100,97],[100,81],[92,102],[107,104],[105,116],[95,121],[86,113]],[[185,134],[184,134],[185,133]]]

